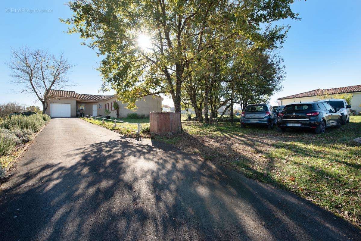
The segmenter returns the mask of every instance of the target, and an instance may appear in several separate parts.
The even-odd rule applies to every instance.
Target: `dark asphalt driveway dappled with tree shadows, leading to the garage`
[[[151,140],[52,119],[0,189],[0,240],[361,240],[287,191]]]

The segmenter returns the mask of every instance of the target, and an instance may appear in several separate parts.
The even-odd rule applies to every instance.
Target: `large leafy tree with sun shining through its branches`
[[[230,54],[218,44],[241,37],[264,42],[256,34],[261,24],[297,18],[293,1],[77,0],[68,3],[74,15],[62,21],[71,25],[69,33],[79,33],[83,44],[105,56],[99,67],[103,90],[116,90],[128,108],[136,108],[139,97],[169,94],[180,112],[184,81],[199,87],[187,90],[194,92],[188,98],[192,104],[199,91],[209,96],[212,68],[204,66]]]

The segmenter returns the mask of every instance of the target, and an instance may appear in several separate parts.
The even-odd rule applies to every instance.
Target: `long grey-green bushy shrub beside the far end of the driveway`
[[[8,130],[16,129],[28,129],[33,132],[38,132],[42,126],[45,125],[43,116],[40,114],[31,116],[13,116],[11,119],[6,119],[2,124],[1,128]]]

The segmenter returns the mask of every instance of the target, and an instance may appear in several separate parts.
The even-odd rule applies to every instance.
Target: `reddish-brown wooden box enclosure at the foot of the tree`
[[[150,112],[149,131],[156,134],[180,132],[181,113]]]

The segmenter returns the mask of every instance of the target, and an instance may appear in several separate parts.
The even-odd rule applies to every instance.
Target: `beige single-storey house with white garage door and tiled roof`
[[[126,109],[127,104],[117,100],[116,95],[78,94],[75,91],[49,90],[48,108],[46,113],[51,117],[76,117],[77,111],[84,115],[105,116],[104,110],[109,109],[110,117],[116,117],[113,103],[118,102],[119,117],[126,117],[128,113],[149,115],[152,111],[161,111],[162,98],[148,95],[135,102],[136,112]]]

